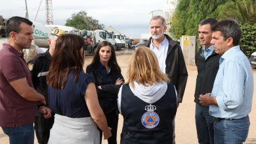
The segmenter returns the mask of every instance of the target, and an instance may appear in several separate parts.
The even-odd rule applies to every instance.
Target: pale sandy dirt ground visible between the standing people
[[[127,78],[127,65],[129,63],[129,58],[131,57],[131,52],[129,50],[124,50],[121,52],[117,52],[117,62],[119,63],[123,77]],[[91,63],[92,56],[85,57],[85,67]],[[196,126],[194,120],[194,113],[195,113],[195,103],[194,103],[194,89],[196,84],[196,67],[195,66],[187,66],[188,68],[188,82],[186,84],[186,90],[184,93],[183,102],[180,104],[177,116],[175,119],[175,132],[176,132],[176,143],[177,144],[196,144],[197,137],[196,137]],[[256,79],[256,69],[253,69],[253,75]],[[256,81],[254,79],[254,83],[256,85]],[[256,93],[256,92],[255,92]],[[249,115],[251,126],[249,130],[248,139],[256,139],[256,98],[255,94],[253,94],[253,109]],[[120,140],[121,128],[123,124],[123,118],[119,115],[119,125],[118,125],[118,132],[117,132],[117,143]],[[0,129],[0,143],[7,144],[9,143],[8,137],[3,134],[2,130]],[[35,143],[36,138],[35,138]],[[251,141],[247,143],[256,143],[256,141]],[[103,144],[107,144],[107,141],[104,140]]]

